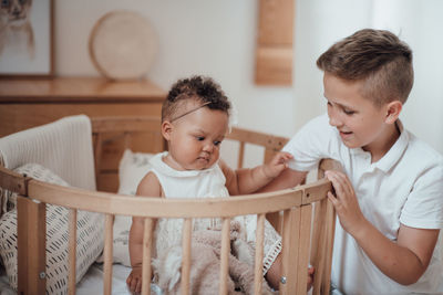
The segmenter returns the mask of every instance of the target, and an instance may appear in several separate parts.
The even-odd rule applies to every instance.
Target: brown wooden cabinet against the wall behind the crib
[[[100,77],[0,80],[0,137],[64,116],[161,116],[167,93],[150,81],[111,82]],[[158,124],[157,137],[161,137]],[[119,159],[125,148],[152,150],[154,138],[133,135],[131,143],[109,134],[103,146],[97,182],[106,191],[119,186]],[[104,171],[104,172],[103,172]]]

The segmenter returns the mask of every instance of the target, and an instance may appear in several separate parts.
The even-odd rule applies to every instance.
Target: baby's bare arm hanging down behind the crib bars
[[[148,172],[137,187],[137,197],[158,197],[162,194],[162,187],[156,176]],[[153,226],[155,229],[155,224]],[[131,292],[142,291],[142,260],[143,260],[143,230],[144,219],[133,217],[130,231],[130,257],[132,272],[127,276],[126,284]]]

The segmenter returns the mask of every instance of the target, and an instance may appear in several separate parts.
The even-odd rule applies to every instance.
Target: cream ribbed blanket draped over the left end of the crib
[[[85,115],[0,138],[0,162],[1,158],[8,169],[37,162],[75,188],[95,190],[91,122]]]

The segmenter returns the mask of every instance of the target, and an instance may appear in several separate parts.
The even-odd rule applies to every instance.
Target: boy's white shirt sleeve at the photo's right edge
[[[419,229],[443,229],[443,161],[427,167],[416,178],[400,222]]]

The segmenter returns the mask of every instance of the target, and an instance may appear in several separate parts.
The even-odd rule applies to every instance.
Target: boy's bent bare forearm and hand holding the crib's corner
[[[414,229],[400,224],[396,242],[389,240],[362,214],[349,179],[327,171],[336,196],[328,193],[343,229],[387,276],[402,285],[419,281],[426,271],[440,230]]]

